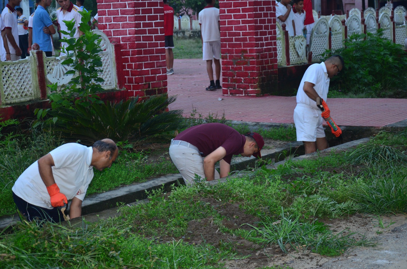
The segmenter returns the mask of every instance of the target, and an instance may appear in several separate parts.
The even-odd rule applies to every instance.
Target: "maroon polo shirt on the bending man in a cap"
[[[204,153],[204,156],[223,147],[226,150],[223,161],[230,164],[233,155],[243,153],[246,137],[225,124],[206,123],[180,132],[174,140],[182,140],[194,145]]]

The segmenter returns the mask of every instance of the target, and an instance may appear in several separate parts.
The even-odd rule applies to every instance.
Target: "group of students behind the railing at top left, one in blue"
[[[28,19],[23,14],[23,10],[19,6],[21,0],[10,0],[1,13],[0,20],[0,60],[1,61],[17,61],[24,59],[30,55],[31,46],[33,43],[39,45],[47,57],[55,55],[52,35],[56,33],[55,26],[58,30],[68,31],[66,24],[63,21],[74,19],[76,32],[74,37],[82,35],[79,29],[82,15],[79,11],[83,11],[84,0],[77,0],[76,5],[70,0],[57,0],[60,8],[57,9],[57,19],[52,21],[47,7],[51,5],[51,0],[36,0],[36,10]],[[98,16],[94,17],[97,21]],[[60,33],[60,37],[69,37]],[[61,48],[66,47],[66,43],[61,43]],[[62,49],[61,56],[66,55]]]

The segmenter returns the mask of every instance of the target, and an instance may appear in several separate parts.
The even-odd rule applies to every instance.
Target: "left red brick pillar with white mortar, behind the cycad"
[[[98,28],[120,45],[129,96],[167,92],[162,0],[97,0]]]

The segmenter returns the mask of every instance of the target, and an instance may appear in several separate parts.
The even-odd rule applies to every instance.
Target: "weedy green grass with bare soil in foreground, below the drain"
[[[220,269],[265,247],[325,256],[373,247],[374,239],[324,220],[407,211],[406,133],[381,132],[350,152],[250,169],[215,185],[153,191],[148,203],[95,223],[20,223],[0,235],[2,267]]]

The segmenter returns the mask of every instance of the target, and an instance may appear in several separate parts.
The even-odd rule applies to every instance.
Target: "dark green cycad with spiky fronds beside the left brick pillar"
[[[59,106],[49,111],[58,120],[54,131],[65,138],[93,143],[109,137],[115,141],[129,141],[140,145],[169,139],[173,131],[182,128],[182,110],[165,111],[175,96],[154,96],[118,103],[93,103],[90,106]]]

